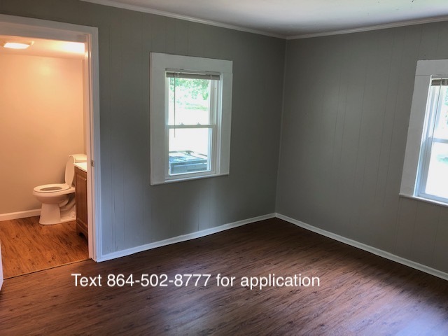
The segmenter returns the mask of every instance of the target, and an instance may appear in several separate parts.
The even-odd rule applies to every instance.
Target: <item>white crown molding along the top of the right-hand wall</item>
[[[412,26],[412,25],[422,25],[424,23],[433,23],[433,22],[442,22],[442,21],[448,21],[448,16],[441,16],[438,18],[419,19],[419,20],[409,20],[409,21],[402,21],[402,22],[393,22],[393,23],[386,23],[384,25],[366,26],[366,27],[359,27],[359,28],[353,28],[353,29],[324,31],[322,33],[299,34],[299,35],[295,35],[295,36],[286,36],[286,39],[287,40],[296,40],[299,38],[313,38],[313,37],[322,37],[322,36],[331,36],[331,35],[360,33],[363,31],[397,28],[397,27],[405,27],[405,26]]]

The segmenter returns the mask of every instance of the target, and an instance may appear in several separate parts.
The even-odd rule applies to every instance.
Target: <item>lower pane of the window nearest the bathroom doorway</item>
[[[169,130],[169,175],[210,170],[211,128]]]

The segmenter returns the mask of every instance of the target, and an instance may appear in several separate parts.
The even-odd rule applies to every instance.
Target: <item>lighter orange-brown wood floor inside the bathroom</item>
[[[40,225],[38,216],[0,222],[3,276],[10,278],[87,260],[87,239],[76,222]]]

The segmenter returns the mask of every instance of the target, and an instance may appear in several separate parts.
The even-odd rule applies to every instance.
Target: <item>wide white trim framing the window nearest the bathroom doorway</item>
[[[167,176],[167,113],[165,72],[167,69],[221,73],[221,99],[216,116],[216,167],[211,172]],[[151,52],[150,55],[150,150],[151,186],[204,179],[230,172],[230,125],[232,115],[232,61]]]

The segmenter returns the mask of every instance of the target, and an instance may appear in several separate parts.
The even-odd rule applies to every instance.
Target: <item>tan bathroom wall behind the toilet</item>
[[[0,54],[1,215],[39,209],[33,188],[63,183],[85,153],[83,61]]]

